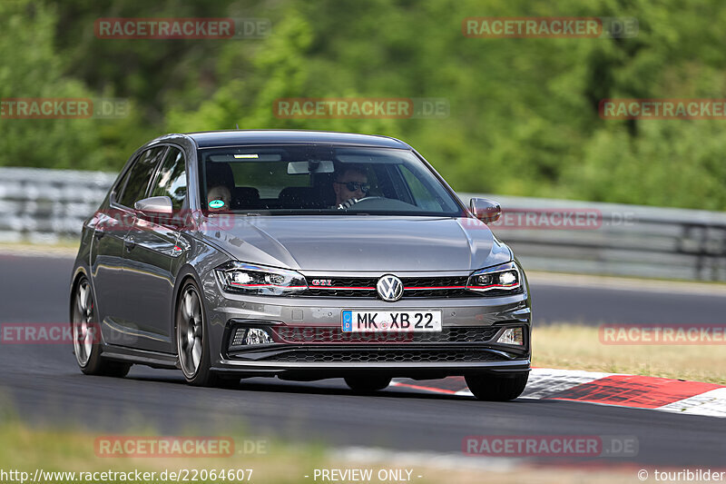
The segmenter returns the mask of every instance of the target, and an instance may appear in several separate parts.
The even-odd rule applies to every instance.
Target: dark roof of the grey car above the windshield
[[[388,136],[303,130],[230,130],[186,133],[200,148],[250,144],[346,144],[380,148],[410,149]]]

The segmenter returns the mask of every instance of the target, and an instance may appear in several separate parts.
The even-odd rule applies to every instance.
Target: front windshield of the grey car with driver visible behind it
[[[390,148],[244,146],[200,150],[210,212],[461,216],[417,156]]]

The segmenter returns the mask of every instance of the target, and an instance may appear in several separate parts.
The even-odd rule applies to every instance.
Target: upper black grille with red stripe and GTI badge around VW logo
[[[295,297],[311,296],[311,297],[339,297],[339,298],[368,298],[376,299],[376,284],[378,278],[353,278],[338,277],[325,278],[315,277],[309,278],[310,281],[324,280],[329,282],[326,286],[309,285],[308,291],[295,294]],[[402,277],[403,297],[401,299],[411,298],[466,298],[479,297],[482,294],[475,291],[466,290],[466,282],[468,276],[454,277]],[[502,291],[509,293],[507,291]],[[498,295],[495,291],[487,292],[486,295]]]

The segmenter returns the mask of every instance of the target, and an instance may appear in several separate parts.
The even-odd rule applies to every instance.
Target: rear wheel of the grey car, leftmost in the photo
[[[86,375],[125,377],[131,363],[108,361],[101,357],[101,326],[98,324],[93,291],[88,279],[82,277],[75,286],[71,313],[75,361]]]

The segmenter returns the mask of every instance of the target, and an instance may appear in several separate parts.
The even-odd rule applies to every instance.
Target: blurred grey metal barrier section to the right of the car
[[[459,196],[467,204],[472,196],[491,198],[502,205],[505,219],[507,212],[535,214],[534,224],[520,222],[521,217],[490,223],[525,269],[726,281],[726,212],[472,193]],[[567,214],[584,214],[585,222],[564,228],[562,219]]]

